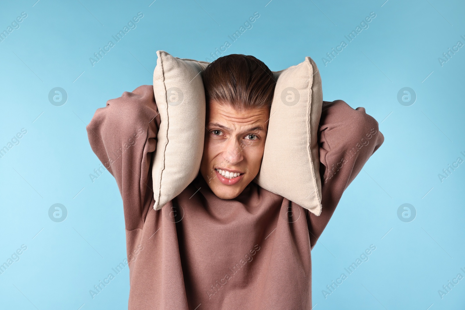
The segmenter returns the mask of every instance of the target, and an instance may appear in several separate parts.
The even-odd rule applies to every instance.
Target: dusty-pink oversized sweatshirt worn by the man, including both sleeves
[[[150,166],[159,125],[150,85],[108,100],[87,125],[92,150],[123,199],[128,308],[312,309],[311,249],[345,188],[383,143],[377,121],[342,100],[324,102],[318,217],[253,182],[237,198],[218,198],[200,173],[155,211]]]

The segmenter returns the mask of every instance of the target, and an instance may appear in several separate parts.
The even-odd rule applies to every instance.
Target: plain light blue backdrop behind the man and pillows
[[[89,178],[100,161],[85,126],[108,99],[152,84],[155,51],[205,60],[254,12],[259,19],[226,53],[254,55],[273,71],[312,57],[324,100],[365,107],[385,136],[312,251],[314,309],[464,309],[465,279],[438,294],[465,276],[465,164],[438,178],[465,159],[465,48],[438,62],[465,43],[463,2],[35,1],[5,1],[0,10],[1,31],[27,13],[0,42],[0,147],[27,130],[0,158],[0,264],[27,245],[0,275],[2,309],[127,309],[127,267],[89,294],[126,257],[126,242],[114,178]],[[137,27],[92,66],[93,53],[138,12]],[[322,57],[370,12],[369,28],[325,66]],[[66,90],[65,105],[48,101],[53,87]],[[416,92],[412,106],[399,104],[402,87]],[[48,217],[55,203],[68,210],[61,223]],[[417,211],[410,223],[397,217],[404,203]],[[370,244],[369,260],[325,299],[326,285]]]

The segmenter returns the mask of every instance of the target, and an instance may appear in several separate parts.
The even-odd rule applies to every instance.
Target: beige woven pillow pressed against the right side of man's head
[[[273,74],[276,88],[256,183],[319,215],[317,132],[323,105],[321,77],[310,57]]]

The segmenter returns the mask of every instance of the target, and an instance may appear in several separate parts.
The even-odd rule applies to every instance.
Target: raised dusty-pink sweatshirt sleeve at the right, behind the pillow
[[[365,108],[352,109],[342,100],[323,101],[318,131],[322,209],[307,212],[313,248],[328,224],[342,193],[384,141],[378,122]]]

